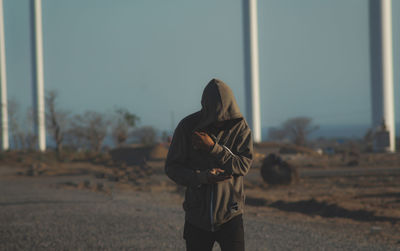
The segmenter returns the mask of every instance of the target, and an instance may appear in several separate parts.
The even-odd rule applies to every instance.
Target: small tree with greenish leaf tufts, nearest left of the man
[[[129,135],[140,119],[135,114],[123,108],[116,109],[115,113],[117,118],[114,120],[112,136],[115,144],[121,146],[126,143]]]

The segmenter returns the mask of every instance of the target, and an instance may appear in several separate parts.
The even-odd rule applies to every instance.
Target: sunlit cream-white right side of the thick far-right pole
[[[389,151],[394,152],[396,129],[393,91],[392,0],[381,0],[381,20],[383,117],[389,131]]]

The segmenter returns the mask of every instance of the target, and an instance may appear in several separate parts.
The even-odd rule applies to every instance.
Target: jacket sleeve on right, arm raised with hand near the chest
[[[233,149],[215,143],[211,155],[228,174],[246,175],[253,161],[253,139],[248,126],[246,125],[238,135]]]

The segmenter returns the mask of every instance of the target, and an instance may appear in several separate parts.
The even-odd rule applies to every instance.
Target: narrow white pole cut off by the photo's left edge
[[[1,149],[9,149],[8,110],[7,110],[7,73],[6,48],[4,37],[3,0],[0,0],[0,82],[1,82]]]

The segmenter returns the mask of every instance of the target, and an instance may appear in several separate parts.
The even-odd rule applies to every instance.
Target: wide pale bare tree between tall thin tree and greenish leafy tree
[[[107,135],[107,129],[110,122],[105,115],[86,111],[83,115],[75,115],[71,122],[68,137],[79,144],[80,147],[86,147],[90,150],[99,152]]]

